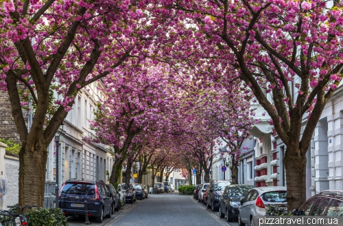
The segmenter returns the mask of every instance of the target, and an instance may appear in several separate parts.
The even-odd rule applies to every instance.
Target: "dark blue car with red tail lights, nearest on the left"
[[[104,215],[110,218],[112,199],[104,181],[69,179],[63,183],[58,207],[65,216],[84,216],[84,201],[88,203],[88,215],[97,223],[102,223]]]

